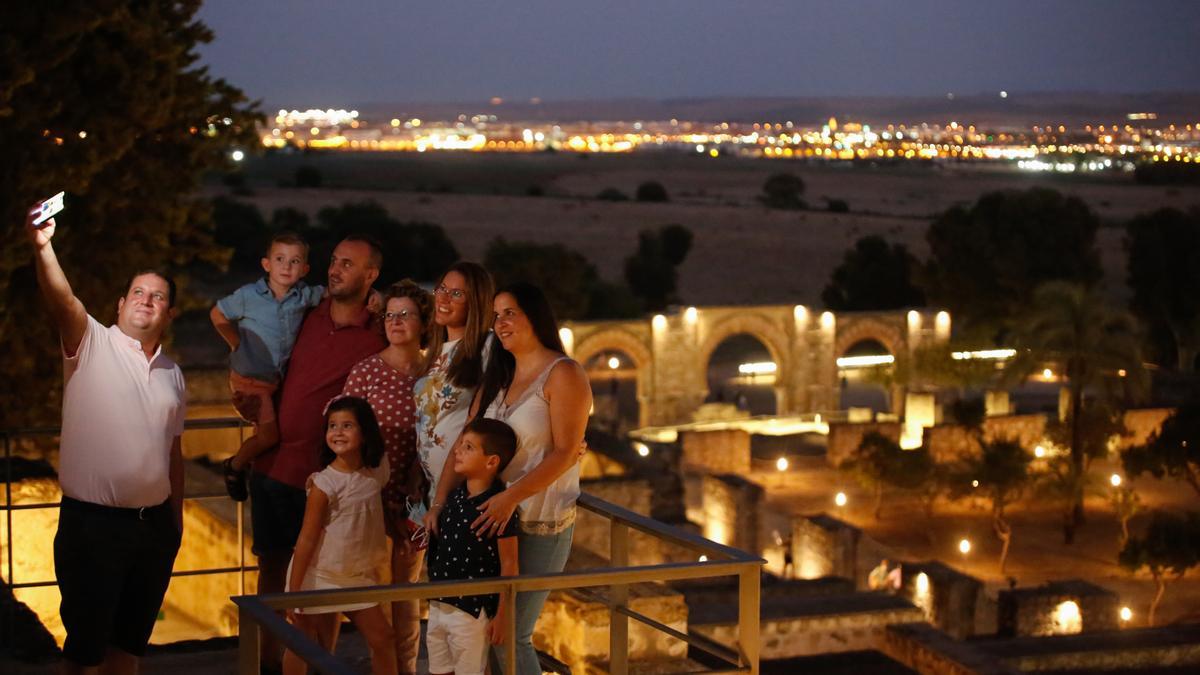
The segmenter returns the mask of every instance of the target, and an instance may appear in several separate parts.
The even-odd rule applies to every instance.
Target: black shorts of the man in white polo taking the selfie
[[[88,667],[100,665],[109,646],[145,653],[179,540],[169,502],[139,510],[62,497],[54,536],[62,656]]]

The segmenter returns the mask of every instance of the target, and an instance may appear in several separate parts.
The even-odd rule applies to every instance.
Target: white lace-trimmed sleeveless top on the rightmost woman
[[[550,402],[545,386],[550,372],[568,357],[554,359],[511,405],[504,404],[502,389],[484,417],[505,422],[517,434],[517,452],[500,473],[509,485],[534,470],[554,447],[550,428]],[[580,496],[580,464],[575,462],[545,490],[521,502],[521,530],[529,534],[557,534],[575,522],[575,501]]]

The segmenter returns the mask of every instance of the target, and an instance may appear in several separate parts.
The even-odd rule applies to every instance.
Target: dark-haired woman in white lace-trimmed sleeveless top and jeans
[[[580,447],[592,408],[583,368],[564,354],[558,324],[545,294],[528,283],[500,289],[493,303],[493,330],[503,350],[492,350],[472,412],[506,422],[517,452],[502,478],[508,489],[480,506],[473,524],[480,533],[500,530],[520,508],[521,574],[562,572],[575,531],[580,496]],[[455,476],[452,471],[443,477]],[[440,509],[456,480],[442,480],[433,508]],[[516,602],[516,671],[539,674],[533,631],[547,591],[520,593]],[[503,655],[500,655],[503,658]]]

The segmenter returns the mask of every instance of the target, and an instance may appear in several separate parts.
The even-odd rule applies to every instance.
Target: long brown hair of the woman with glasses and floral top
[[[469,261],[458,261],[450,265],[439,279],[438,285],[451,271],[457,271],[467,281],[467,325],[462,341],[450,357],[446,376],[455,387],[470,389],[479,384],[484,375],[484,342],[492,328],[492,298],[496,294],[496,282],[484,265]],[[446,329],[430,322],[433,330],[430,336],[428,364],[432,365],[442,353],[446,341]]]

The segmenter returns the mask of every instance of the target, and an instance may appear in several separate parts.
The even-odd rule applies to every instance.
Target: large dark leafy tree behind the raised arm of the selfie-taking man
[[[257,104],[197,64],[212,40],[199,0],[23,2],[0,22],[0,342],[8,387],[0,426],[55,419],[58,338],[40,307],[25,209],[65,190],[54,245],[72,287],[101,321],[138,265],[176,273],[224,264],[212,240],[205,172],[257,147]],[[30,396],[37,392],[37,396]]]

